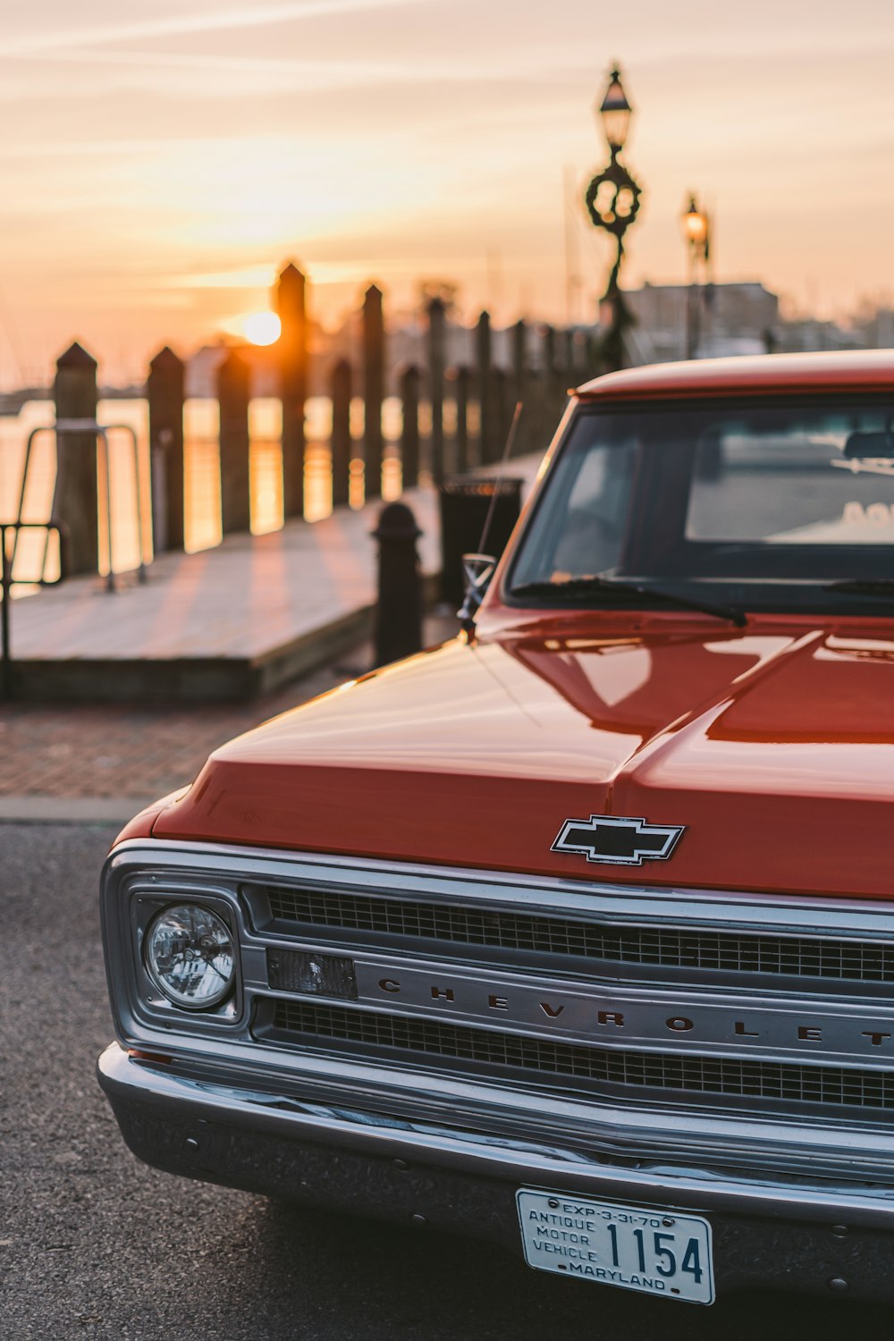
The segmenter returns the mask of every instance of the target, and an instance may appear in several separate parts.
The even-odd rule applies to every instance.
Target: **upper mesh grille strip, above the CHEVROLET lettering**
[[[611,963],[894,983],[894,944],[704,928],[606,927],[473,905],[267,886],[273,921]]]

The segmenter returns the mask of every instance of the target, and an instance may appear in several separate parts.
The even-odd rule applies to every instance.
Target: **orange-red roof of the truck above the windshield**
[[[639,401],[665,397],[736,396],[751,392],[894,393],[894,349],[836,350],[824,354],[759,354],[647,363],[606,373],[576,392],[584,401]]]

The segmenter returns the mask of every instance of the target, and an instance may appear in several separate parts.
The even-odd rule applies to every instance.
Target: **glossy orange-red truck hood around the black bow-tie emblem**
[[[890,897],[890,628],[626,620],[456,641],[346,685],[217,750],[153,834]],[[685,830],[642,866],[551,850],[590,815]]]

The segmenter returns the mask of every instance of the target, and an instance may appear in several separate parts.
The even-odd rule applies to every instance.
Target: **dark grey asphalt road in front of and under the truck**
[[[1,1341],[890,1337],[894,1307],[643,1299],[139,1165],[94,1080],[111,1037],[97,876],[113,834],[0,825]]]

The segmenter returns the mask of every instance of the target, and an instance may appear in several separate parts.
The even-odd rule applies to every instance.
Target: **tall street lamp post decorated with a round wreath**
[[[603,228],[615,240],[617,255],[609,283],[600,302],[607,315],[607,330],[602,339],[602,359],[609,370],[623,365],[623,333],[630,325],[630,312],[623,300],[618,276],[623,259],[623,237],[639,212],[642,189],[621,162],[621,152],[627,139],[633,107],[621,83],[621,71],[614,68],[609,87],[596,109],[609,145],[610,161],[587,186],[587,212],[595,228]]]

